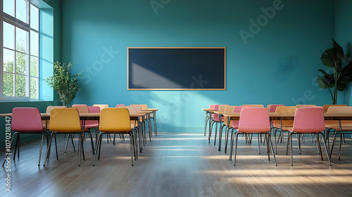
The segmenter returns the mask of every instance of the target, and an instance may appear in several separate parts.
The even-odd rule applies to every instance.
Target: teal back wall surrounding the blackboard
[[[162,129],[175,131],[202,128],[201,108],[212,103],[331,103],[315,80],[334,37],[333,0],[151,2],[159,7],[62,1],[61,58],[82,73],[75,103],[146,103],[160,108]],[[258,19],[260,30],[250,22]],[[240,31],[251,33],[246,44]],[[227,90],[127,91],[128,46],[225,46]]]

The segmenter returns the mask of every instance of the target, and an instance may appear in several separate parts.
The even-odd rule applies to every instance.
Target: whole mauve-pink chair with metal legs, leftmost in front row
[[[20,134],[42,134],[42,141],[39,148],[39,163],[42,156],[43,140],[44,134],[46,134],[46,141],[48,140],[48,134],[46,133],[47,129],[43,129],[42,125],[42,116],[38,108],[13,108],[12,110],[12,120],[11,120],[11,129],[15,132],[11,140],[11,145],[13,139],[17,135],[15,142],[15,153],[13,154],[13,159],[15,159],[16,151],[18,150],[18,158],[20,158]],[[10,145],[10,146],[11,146]],[[8,153],[5,154],[5,160]],[[4,163],[5,163],[4,160]],[[3,167],[4,167],[3,163]]]

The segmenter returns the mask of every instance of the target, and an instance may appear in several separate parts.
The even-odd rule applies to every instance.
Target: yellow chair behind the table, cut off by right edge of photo
[[[352,106],[330,106],[327,113],[352,113]],[[339,124],[341,123],[341,125]],[[341,126],[341,127],[340,127]],[[352,134],[352,120],[325,120],[325,127],[327,128],[326,140],[329,144],[329,132],[334,130],[334,139],[332,141],[332,148],[330,151],[329,158],[332,156],[332,150],[334,149],[334,142],[336,134],[340,133],[340,146],[339,146],[339,160],[341,158],[341,144],[344,134]]]

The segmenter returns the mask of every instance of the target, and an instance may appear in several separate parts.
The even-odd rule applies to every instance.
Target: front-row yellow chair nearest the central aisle
[[[134,136],[130,125],[130,113],[126,108],[105,108],[101,110],[99,120],[100,134],[98,136],[98,145],[94,155],[93,166],[95,165],[96,155],[100,159],[101,139],[103,134],[129,134],[131,163],[133,166],[133,154],[136,157],[134,147]],[[133,149],[133,150],[132,150]]]

